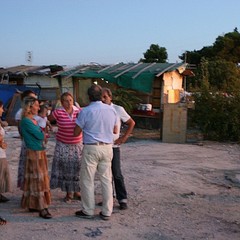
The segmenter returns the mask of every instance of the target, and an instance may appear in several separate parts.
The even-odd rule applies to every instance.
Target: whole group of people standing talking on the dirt
[[[17,186],[23,191],[22,208],[38,212],[44,219],[52,218],[48,209],[51,204],[50,189],[60,188],[66,193],[65,202],[81,201],[82,209],[75,213],[77,217],[93,218],[94,178],[98,172],[102,186],[100,218],[109,220],[111,217],[113,187],[120,209],[127,209],[127,191],[120,164],[120,145],[130,136],[135,122],[123,107],[112,103],[110,89],[93,84],[88,89],[90,104],[84,108],[74,105],[71,93],[65,92],[61,95],[61,106],[48,116],[48,120],[55,120],[58,127],[50,177],[44,147],[47,135],[36,118],[41,107],[34,92],[27,91],[22,94],[21,114],[16,115],[22,137],[17,182]],[[21,117],[18,117],[19,115]],[[127,125],[122,135],[121,122]],[[10,176],[2,133],[4,130],[0,130],[0,167],[5,164],[6,169],[3,172],[3,168],[0,168],[2,193],[10,190]],[[5,223],[6,220],[0,218],[0,224]]]

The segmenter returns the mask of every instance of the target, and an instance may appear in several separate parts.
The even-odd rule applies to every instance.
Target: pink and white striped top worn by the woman
[[[81,109],[73,106],[73,113],[70,116],[63,107],[59,107],[52,112],[53,117],[57,121],[58,131],[56,139],[66,144],[75,144],[82,141],[82,133],[74,137],[73,132],[76,126],[77,114]]]

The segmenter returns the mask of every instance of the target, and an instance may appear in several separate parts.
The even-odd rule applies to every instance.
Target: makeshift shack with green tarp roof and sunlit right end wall
[[[53,77],[59,79],[62,89],[72,88],[81,106],[88,104],[86,90],[95,81],[104,87],[114,85],[115,88],[134,90],[142,99],[139,103],[142,109],[131,113],[136,125],[162,128],[163,105],[180,102],[185,76],[193,75],[187,67],[186,63],[89,64],[59,72]]]

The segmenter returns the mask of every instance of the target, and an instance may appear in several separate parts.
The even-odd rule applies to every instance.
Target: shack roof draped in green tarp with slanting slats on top
[[[182,74],[186,68],[186,63],[89,64],[76,66],[67,71],[55,74],[54,77],[60,75],[66,78],[103,78],[121,87],[150,93],[156,77],[160,77],[165,72],[175,70]]]

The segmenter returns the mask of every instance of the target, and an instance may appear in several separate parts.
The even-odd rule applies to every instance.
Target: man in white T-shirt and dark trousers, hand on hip
[[[121,106],[112,103],[112,92],[109,88],[102,89],[102,101],[111,105],[118,115],[118,133],[114,134],[112,174],[116,190],[116,197],[120,205],[120,210],[125,210],[127,206],[127,191],[124,184],[124,177],[121,171],[120,145],[125,143],[133,131],[135,122]],[[121,122],[127,125],[126,131],[120,136]]]

